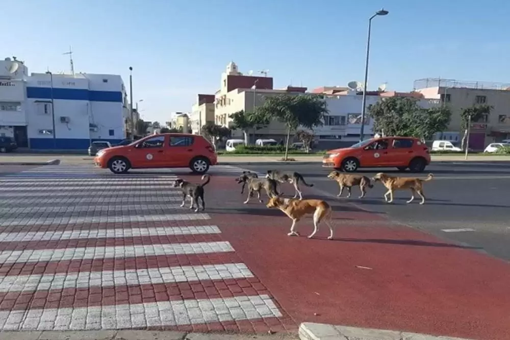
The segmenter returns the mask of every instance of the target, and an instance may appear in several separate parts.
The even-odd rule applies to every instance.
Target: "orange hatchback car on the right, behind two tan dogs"
[[[322,166],[334,167],[347,173],[360,167],[407,168],[421,173],[430,164],[427,145],[414,137],[372,138],[352,145],[350,148],[330,150],[322,160]]]

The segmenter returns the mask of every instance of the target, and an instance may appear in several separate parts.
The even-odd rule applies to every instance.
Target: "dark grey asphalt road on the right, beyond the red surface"
[[[246,166],[265,173],[268,166]],[[297,171],[314,184],[325,196],[336,198],[338,185],[326,178],[331,171],[317,165],[279,165],[282,171]],[[394,169],[363,169],[360,173],[373,176],[377,172],[398,176],[415,176]],[[353,188],[350,199],[340,198],[346,204],[385,214],[392,221],[422,229],[443,239],[460,242],[493,256],[510,260],[510,162],[433,163],[424,174],[433,173],[435,179],[425,185],[427,201],[411,204],[405,201],[410,192],[399,191],[393,204],[387,204],[385,188],[376,184],[364,199],[358,199],[359,188]],[[290,188],[289,188],[290,190]],[[344,196],[347,191],[344,190]]]

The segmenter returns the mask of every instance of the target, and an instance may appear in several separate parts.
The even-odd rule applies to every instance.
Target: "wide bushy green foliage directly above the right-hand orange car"
[[[424,109],[418,105],[418,100],[409,97],[381,99],[369,106],[369,114],[374,119],[374,132],[423,139],[445,131],[451,120],[447,106]]]

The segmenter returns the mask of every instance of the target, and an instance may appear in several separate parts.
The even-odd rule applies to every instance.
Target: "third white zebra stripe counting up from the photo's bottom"
[[[227,241],[159,245],[151,244],[141,246],[5,250],[0,252],[0,263],[146,257],[155,255],[208,254],[233,251],[234,248],[232,248],[230,242]]]

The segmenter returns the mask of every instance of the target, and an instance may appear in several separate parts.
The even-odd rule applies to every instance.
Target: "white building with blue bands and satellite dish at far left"
[[[13,66],[17,64],[17,66]],[[127,95],[117,75],[33,73],[0,61],[0,135],[20,148],[85,150],[125,138]]]

